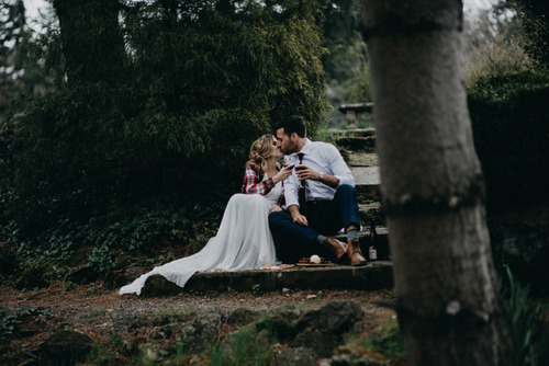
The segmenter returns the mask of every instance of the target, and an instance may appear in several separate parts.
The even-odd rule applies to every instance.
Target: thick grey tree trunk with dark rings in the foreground
[[[509,365],[457,0],[365,0],[381,193],[410,365]]]

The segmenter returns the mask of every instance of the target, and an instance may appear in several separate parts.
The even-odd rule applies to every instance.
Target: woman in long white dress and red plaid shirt
[[[282,182],[292,173],[292,167],[279,170],[277,161],[281,158],[282,152],[272,135],[254,141],[246,163],[243,194],[235,194],[228,201],[217,235],[200,252],[155,267],[122,287],[120,295],[139,295],[147,278],[154,274],[183,287],[197,272],[257,270],[274,264],[268,215],[282,209]]]

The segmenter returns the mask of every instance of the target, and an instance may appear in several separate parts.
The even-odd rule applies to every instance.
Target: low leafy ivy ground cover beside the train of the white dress
[[[19,258],[23,266],[43,261],[55,264],[63,275],[63,268],[75,261],[74,253],[81,248],[89,248],[88,266],[97,274],[104,274],[115,265],[136,264],[117,263],[121,251],[141,253],[154,264],[159,252],[168,251],[178,255],[188,255],[200,250],[212,231],[208,220],[219,222],[224,201],[204,203],[192,202],[177,206],[172,203],[142,202],[133,206],[122,206],[111,213],[91,218],[82,224],[65,220],[57,226],[43,230],[25,240],[19,238]],[[176,199],[175,199],[176,201]],[[181,202],[181,201],[179,201]]]

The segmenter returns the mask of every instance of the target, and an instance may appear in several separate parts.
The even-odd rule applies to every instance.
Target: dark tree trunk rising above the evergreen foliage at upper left
[[[119,0],[54,0],[69,82],[117,84],[124,76]]]

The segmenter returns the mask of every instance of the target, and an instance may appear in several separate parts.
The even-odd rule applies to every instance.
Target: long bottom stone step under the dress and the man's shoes
[[[363,289],[393,287],[393,265],[386,261],[365,266],[294,266],[288,270],[203,272],[194,274],[184,288],[160,275],[147,278],[143,296],[170,296],[188,291],[272,291],[283,289]]]

